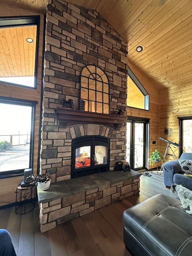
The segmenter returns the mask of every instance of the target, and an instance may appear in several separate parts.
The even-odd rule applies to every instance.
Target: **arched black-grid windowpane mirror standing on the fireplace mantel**
[[[109,80],[101,68],[86,65],[80,86],[80,110],[109,114]]]

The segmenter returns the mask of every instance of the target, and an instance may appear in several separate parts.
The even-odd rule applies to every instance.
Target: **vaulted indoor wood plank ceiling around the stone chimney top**
[[[62,2],[62,0],[58,0]],[[0,3],[4,4],[4,0]],[[158,90],[192,82],[192,0],[66,0],[98,11],[128,42],[128,60]],[[47,0],[6,5],[46,13]],[[138,53],[137,46],[143,51]]]

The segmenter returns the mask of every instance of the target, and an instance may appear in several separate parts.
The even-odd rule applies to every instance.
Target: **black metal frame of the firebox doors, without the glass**
[[[91,155],[95,154],[95,146],[107,147],[107,163],[95,165],[90,161],[91,166],[75,168],[76,149],[82,146],[91,146]],[[91,159],[92,160],[92,159]],[[85,135],[72,139],[71,142],[71,179],[87,176],[95,173],[109,171],[110,167],[110,139],[100,135]]]

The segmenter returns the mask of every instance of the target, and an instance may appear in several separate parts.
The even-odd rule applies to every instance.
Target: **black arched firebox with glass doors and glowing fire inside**
[[[109,170],[109,138],[86,135],[73,139],[71,146],[71,179]]]

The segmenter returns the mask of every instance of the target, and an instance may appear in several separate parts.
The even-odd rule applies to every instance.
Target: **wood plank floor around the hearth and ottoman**
[[[140,180],[139,195],[97,209],[43,234],[38,205],[25,215],[16,215],[14,207],[0,210],[0,228],[10,232],[17,256],[130,256],[123,242],[123,211],[159,193],[177,198],[165,187],[162,174],[142,175]]]

